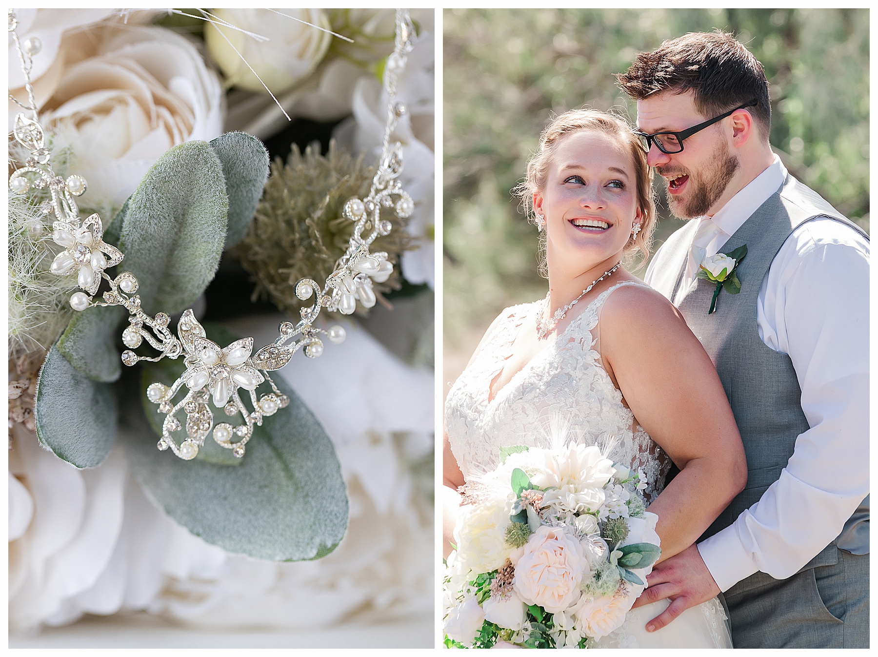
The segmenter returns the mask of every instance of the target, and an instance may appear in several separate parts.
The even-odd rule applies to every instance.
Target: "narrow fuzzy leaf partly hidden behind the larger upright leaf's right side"
[[[263,142],[247,133],[220,134],[211,146],[222,162],[228,195],[228,229],[225,249],[247,235],[250,220],[262,198],[269,177],[269,152]]]

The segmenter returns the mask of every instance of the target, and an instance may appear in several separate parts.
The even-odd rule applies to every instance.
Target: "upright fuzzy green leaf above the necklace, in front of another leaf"
[[[148,314],[175,314],[204,292],[219,266],[226,241],[226,178],[206,141],[187,141],[167,151],[128,199],[119,269],[140,283]]]

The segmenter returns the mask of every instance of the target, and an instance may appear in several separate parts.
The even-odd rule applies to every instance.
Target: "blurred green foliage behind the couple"
[[[775,151],[867,228],[868,21],[862,9],[446,10],[444,329],[458,361],[446,359],[446,379],[503,307],[545,293],[536,227],[509,190],[550,113],[591,105],[636,119],[613,74],[662,40],[720,28],[744,42],[771,84]],[[682,226],[659,199],[656,247]]]

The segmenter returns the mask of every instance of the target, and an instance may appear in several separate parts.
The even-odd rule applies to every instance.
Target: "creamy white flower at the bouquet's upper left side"
[[[509,509],[504,499],[462,506],[454,528],[460,564],[474,573],[490,573],[506,563],[512,552],[506,544],[508,524]]]

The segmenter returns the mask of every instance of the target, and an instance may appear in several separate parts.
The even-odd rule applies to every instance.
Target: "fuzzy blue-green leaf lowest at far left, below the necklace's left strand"
[[[99,466],[116,438],[112,386],[87,379],[55,347],[40,368],[34,402],[40,444],[79,467]]]

